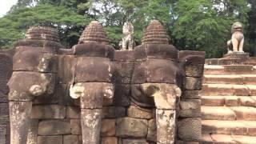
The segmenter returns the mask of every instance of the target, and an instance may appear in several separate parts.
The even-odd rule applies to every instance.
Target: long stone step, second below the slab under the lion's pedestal
[[[205,74],[203,77],[205,84],[236,84],[236,85],[255,85],[256,74],[228,74],[228,75],[214,75]]]

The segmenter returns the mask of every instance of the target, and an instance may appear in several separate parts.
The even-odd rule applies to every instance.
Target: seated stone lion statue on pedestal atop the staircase
[[[243,32],[242,23],[234,22],[234,24],[231,27],[232,37],[227,42],[228,54],[232,52],[243,52],[244,36],[242,32]]]

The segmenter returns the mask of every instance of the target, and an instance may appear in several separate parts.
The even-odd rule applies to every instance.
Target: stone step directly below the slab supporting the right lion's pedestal
[[[256,74],[253,65],[205,65],[204,74]]]

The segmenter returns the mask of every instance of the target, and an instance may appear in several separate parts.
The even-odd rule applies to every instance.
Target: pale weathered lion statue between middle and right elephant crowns
[[[134,26],[130,22],[125,22],[122,27],[122,50],[134,49]],[[121,43],[119,44],[121,45]]]

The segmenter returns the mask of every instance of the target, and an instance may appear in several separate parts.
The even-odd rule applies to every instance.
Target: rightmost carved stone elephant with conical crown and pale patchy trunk
[[[141,75],[137,86],[132,86],[131,99],[139,106],[156,107],[157,143],[170,144],[176,134],[176,102],[181,96],[182,69],[178,63],[178,50],[169,45],[169,37],[162,24],[153,21],[147,26],[142,46],[135,48],[137,62],[134,78]],[[136,78],[138,80],[139,78]],[[139,91],[139,92],[134,92]]]

